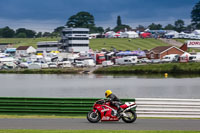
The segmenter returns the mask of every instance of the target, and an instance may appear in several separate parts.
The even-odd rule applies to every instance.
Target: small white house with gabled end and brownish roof
[[[16,49],[16,56],[29,56],[30,54],[35,54],[36,49],[32,46],[19,46]]]

